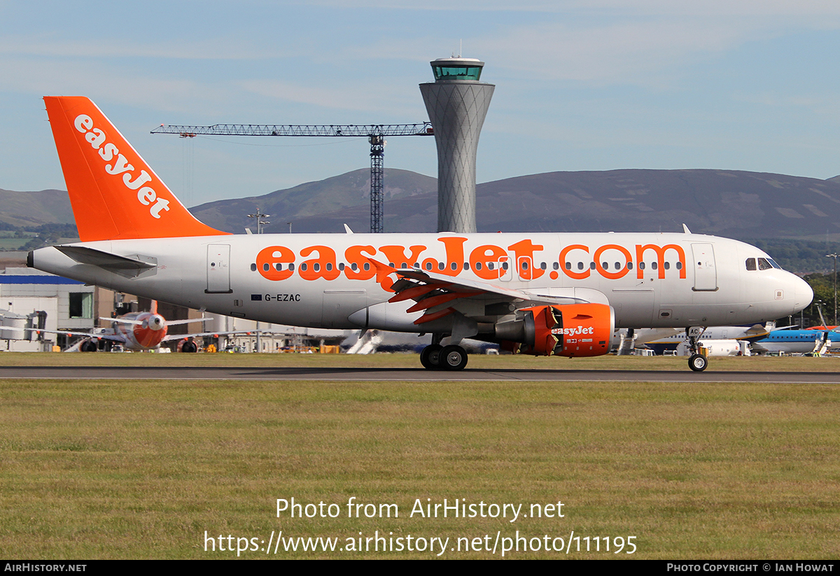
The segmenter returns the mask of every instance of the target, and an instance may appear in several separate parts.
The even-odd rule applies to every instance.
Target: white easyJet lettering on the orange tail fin
[[[119,149],[111,142],[108,136],[101,129],[93,125],[93,119],[87,114],[79,114],[73,120],[73,126],[85,140],[91,144],[91,148],[97,150],[102,159],[105,171],[108,174],[121,178],[126,189],[137,194],[137,202],[148,206],[152,217],[160,218],[160,212],[169,211],[169,201],[160,198],[151,186],[146,186],[152,181],[152,177],[146,170],[140,170],[139,174],[134,173],[134,166],[129,164]]]

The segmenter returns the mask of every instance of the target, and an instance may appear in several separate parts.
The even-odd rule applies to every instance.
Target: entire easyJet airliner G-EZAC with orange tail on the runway
[[[192,217],[93,102],[45,103],[81,242],[34,250],[29,266],[264,322],[432,333],[427,369],[463,369],[464,338],[594,356],[616,327],[767,322],[813,296],[761,250],[687,230],[222,233]]]

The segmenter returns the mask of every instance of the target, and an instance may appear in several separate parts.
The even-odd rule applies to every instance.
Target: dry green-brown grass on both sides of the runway
[[[685,359],[545,360],[475,356],[470,366],[687,370]],[[417,358],[0,354],[2,364],[81,361],[410,366]],[[835,362],[712,359],[710,369]],[[249,548],[241,558],[440,551],[439,542],[433,552],[339,551],[347,538],[358,547],[359,532],[364,549],[375,531],[404,546],[409,535],[425,539],[415,544],[449,537],[440,558],[501,558],[503,539],[514,542],[517,531],[543,548],[546,535],[559,547],[553,539],[568,544],[574,532],[570,553],[520,549],[506,558],[840,557],[840,401],[829,385],[0,380],[0,402],[5,558],[236,558],[238,543]],[[336,504],[339,516],[277,518],[276,500],[291,497]],[[348,518],[351,497],[396,504],[399,517]],[[417,499],[444,498],[522,504],[528,517],[511,522],[510,509],[507,518],[409,516]],[[558,501],[564,517],[530,517],[530,505]],[[215,552],[205,551],[205,531]],[[281,543],[265,554],[277,531],[339,543],[335,552],[286,552]],[[234,552],[218,550],[219,535]],[[485,548],[496,537],[494,555]],[[615,554],[619,537],[625,547]],[[474,538],[482,549],[465,551]]]

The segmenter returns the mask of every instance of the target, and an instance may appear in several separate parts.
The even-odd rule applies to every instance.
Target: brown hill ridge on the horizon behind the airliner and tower
[[[385,173],[386,232],[434,232],[437,181]],[[247,215],[271,216],[265,232],[370,229],[370,171],[354,170],[264,196],[209,202],[191,211],[215,228],[255,231]],[[829,180],[742,170],[548,172],[477,186],[480,232],[692,232],[730,238],[840,241],[840,176]],[[66,192],[0,191],[0,221],[72,222]],[[31,225],[31,224],[26,224]]]

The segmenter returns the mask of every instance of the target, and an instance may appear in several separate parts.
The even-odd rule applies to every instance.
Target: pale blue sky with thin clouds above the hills
[[[836,0],[0,0],[0,188],[64,188],[45,95],[91,97],[188,206],[369,166],[364,139],[160,123],[415,123],[429,60],[496,85],[478,181],[554,170],[840,174]],[[437,175],[432,139],[386,167]]]

